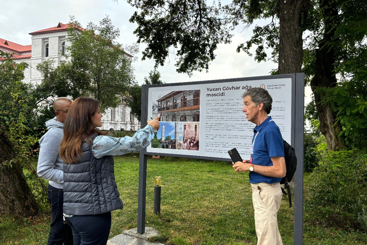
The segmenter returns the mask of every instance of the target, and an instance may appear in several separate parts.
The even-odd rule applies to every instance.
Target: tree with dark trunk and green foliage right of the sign
[[[367,3],[319,0],[313,4],[314,21],[321,28],[314,29],[309,36],[304,71],[315,98],[319,130],[326,138],[328,149],[336,150],[349,147],[348,144],[351,146],[354,140],[348,136],[349,130],[359,129],[362,133],[361,123],[366,120],[360,106],[366,96],[363,89],[366,45],[363,40]],[[357,109],[359,115],[352,118],[350,111],[357,112],[355,108],[361,110]]]

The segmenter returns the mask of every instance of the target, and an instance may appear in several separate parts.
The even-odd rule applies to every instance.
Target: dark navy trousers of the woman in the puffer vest
[[[65,217],[73,230],[74,245],[106,245],[111,229],[111,212]]]

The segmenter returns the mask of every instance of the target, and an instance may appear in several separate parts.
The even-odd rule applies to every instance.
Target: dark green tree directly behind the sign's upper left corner
[[[156,69],[149,72],[148,77],[144,77],[145,84],[162,84],[160,79],[161,75]],[[129,95],[125,97],[125,102],[128,107],[131,108],[131,114],[134,115],[139,121],[141,120],[141,86],[134,84],[129,89]],[[154,102],[153,102],[153,106]]]

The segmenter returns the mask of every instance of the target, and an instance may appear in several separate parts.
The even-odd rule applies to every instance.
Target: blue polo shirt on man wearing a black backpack
[[[255,139],[254,154],[252,155],[252,164],[261,166],[273,166],[273,162],[270,159],[273,156],[284,157],[284,143],[279,127],[273,122],[271,116],[265,119],[259,126],[254,128],[254,137],[257,132],[258,135]],[[268,177],[262,174],[250,172],[250,183],[277,183],[281,178]]]

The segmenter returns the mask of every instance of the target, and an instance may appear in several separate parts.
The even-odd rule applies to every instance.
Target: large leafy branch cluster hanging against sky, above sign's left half
[[[172,46],[178,56],[176,71],[192,75],[192,71],[208,70],[218,43],[230,43],[232,35],[229,28],[223,28],[228,21],[221,16],[220,4],[202,0],[127,2],[139,8],[130,22],[138,24],[134,31],[138,43],[148,44],[142,60],[153,58],[156,66],[164,65]]]

